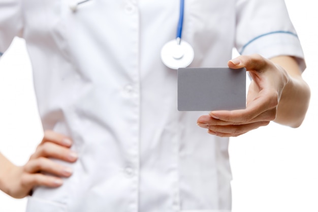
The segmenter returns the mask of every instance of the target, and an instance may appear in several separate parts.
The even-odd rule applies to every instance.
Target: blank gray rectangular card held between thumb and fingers
[[[179,68],[178,110],[236,110],[246,107],[246,70]]]

